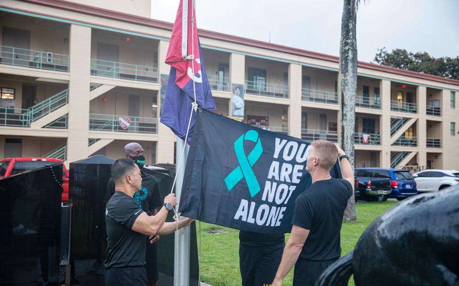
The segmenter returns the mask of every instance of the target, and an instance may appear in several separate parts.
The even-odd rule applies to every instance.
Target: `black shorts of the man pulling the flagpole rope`
[[[110,267],[105,271],[105,285],[146,286],[147,273],[144,266]]]

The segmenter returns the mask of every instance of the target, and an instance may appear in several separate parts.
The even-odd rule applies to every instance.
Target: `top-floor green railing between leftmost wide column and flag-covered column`
[[[158,82],[158,69],[153,66],[91,59],[91,75],[140,82]]]

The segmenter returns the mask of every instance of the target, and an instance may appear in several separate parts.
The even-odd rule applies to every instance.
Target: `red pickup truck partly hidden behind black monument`
[[[45,165],[54,165],[62,163],[64,173],[62,174],[62,185],[64,192],[62,193],[62,202],[67,203],[69,200],[69,171],[61,159],[55,158],[5,158],[0,160],[0,178],[9,177],[25,171],[35,170],[44,167]]]

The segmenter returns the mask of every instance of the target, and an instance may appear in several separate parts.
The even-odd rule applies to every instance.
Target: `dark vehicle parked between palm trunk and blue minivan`
[[[390,177],[386,169],[356,168],[355,196],[363,200],[387,200],[391,193]]]

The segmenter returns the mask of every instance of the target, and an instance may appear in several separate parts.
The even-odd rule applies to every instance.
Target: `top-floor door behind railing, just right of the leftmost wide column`
[[[97,76],[119,78],[119,47],[107,43],[97,43]]]

